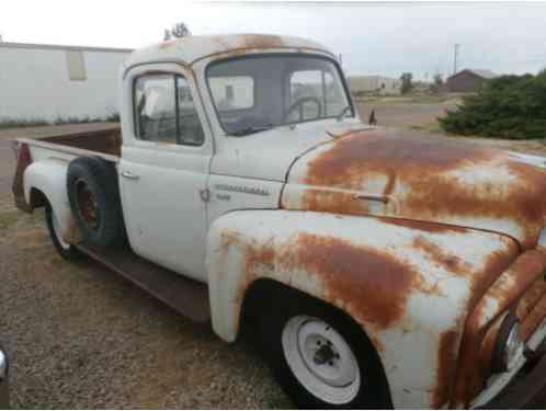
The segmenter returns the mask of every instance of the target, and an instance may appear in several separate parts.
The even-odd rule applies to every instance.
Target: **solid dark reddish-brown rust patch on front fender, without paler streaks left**
[[[409,296],[423,282],[407,262],[337,238],[302,233],[294,253],[287,261],[319,276],[327,300],[346,304],[359,322],[379,329],[403,317]]]

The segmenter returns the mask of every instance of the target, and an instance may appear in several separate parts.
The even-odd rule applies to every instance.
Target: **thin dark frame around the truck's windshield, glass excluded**
[[[352,100],[351,93],[349,91],[346,78],[343,73],[343,70],[341,69],[341,65],[333,57],[312,54],[312,53],[299,53],[299,52],[298,53],[286,53],[286,52],[284,52],[284,53],[276,53],[276,52],[275,53],[255,53],[255,54],[249,54],[249,55],[243,55],[243,56],[235,56],[235,57],[214,59],[214,60],[209,61],[205,67],[205,83],[206,83],[206,88],[208,91],[208,98],[211,99],[212,106],[214,109],[214,114],[216,115],[216,121],[217,121],[218,125],[220,126],[220,129],[224,132],[224,134],[226,136],[241,138],[241,136],[234,136],[234,135],[229,134],[228,130],[226,129],[226,127],[224,126],[224,123],[220,119],[219,111],[218,111],[218,107],[216,106],[216,101],[214,100],[214,96],[213,96],[213,93],[211,90],[211,84],[208,81],[208,70],[211,69],[211,67],[213,67],[217,64],[226,62],[226,61],[242,60],[242,59],[250,59],[250,58],[263,58],[263,57],[292,57],[292,58],[294,58],[294,57],[308,57],[308,58],[327,60],[327,61],[331,62],[335,67],[335,70],[338,71],[338,75],[339,75],[340,81],[341,81],[341,85],[343,88],[343,91],[345,92],[348,105],[351,107],[350,113],[348,113],[350,115],[345,115],[345,116],[349,118],[356,118],[356,111],[354,109],[353,100]],[[249,76],[249,77],[251,77],[251,76]],[[282,90],[282,93],[283,94],[285,93],[284,88]],[[284,98],[285,96],[283,95],[283,100],[284,100]],[[255,105],[255,87],[254,87],[254,105]],[[237,112],[237,111],[234,110],[232,112]],[[305,119],[305,121],[298,121],[298,122],[288,122],[288,123],[284,123],[284,124],[278,125],[278,126],[289,126],[289,125],[297,125],[297,124],[318,122],[318,121],[325,121],[325,119],[332,119],[332,118],[335,118],[335,116],[332,115],[332,116],[328,116],[328,117],[311,118],[311,119]],[[244,137],[249,137],[249,136],[244,136]]]

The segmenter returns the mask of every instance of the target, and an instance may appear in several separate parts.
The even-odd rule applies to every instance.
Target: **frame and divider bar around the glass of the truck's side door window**
[[[175,118],[174,118],[174,123],[175,123],[175,129],[177,129],[177,135],[175,135],[175,141],[174,142],[163,142],[166,145],[173,145],[173,146],[180,146],[180,147],[203,147],[205,145],[205,140],[206,140],[206,133],[205,133],[205,128],[203,127],[203,122],[201,119],[201,116],[200,116],[200,113],[198,113],[198,110],[197,107],[195,106],[195,94],[193,92],[193,88],[192,88],[192,84],[191,82],[187,80],[187,78],[180,73],[180,72],[174,72],[174,71],[159,71],[159,70],[156,70],[156,71],[148,71],[148,72],[143,72],[138,76],[135,76],[133,78],[133,84],[132,84],[132,88],[130,88],[130,94],[132,94],[132,101],[133,101],[133,135],[135,136],[135,139],[137,141],[141,141],[141,142],[157,142],[157,141],[153,141],[153,140],[147,140],[147,139],[144,139],[141,138],[140,136],[140,129],[138,127],[138,111],[137,111],[137,102],[136,102],[136,90],[137,90],[137,82],[143,79],[143,78],[153,78],[153,77],[170,77],[172,78],[172,83],[173,83],[173,87],[174,87],[174,111],[175,111]],[[201,125],[201,129],[202,129],[202,133],[203,133],[203,139],[201,140],[200,144],[191,144],[191,142],[182,142],[182,136],[180,135],[180,102],[179,102],[179,88],[178,88],[178,80],[179,79],[183,79],[189,89],[190,89],[190,94],[192,96],[192,102],[194,104],[194,111],[195,111],[195,115],[200,122],[200,125]]]

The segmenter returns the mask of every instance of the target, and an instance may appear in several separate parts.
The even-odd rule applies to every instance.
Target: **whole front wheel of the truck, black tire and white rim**
[[[300,408],[391,408],[380,359],[344,313],[311,298],[293,299],[262,321],[275,378]]]

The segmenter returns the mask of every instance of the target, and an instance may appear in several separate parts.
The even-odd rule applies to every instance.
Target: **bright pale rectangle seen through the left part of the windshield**
[[[252,77],[211,77],[208,83],[218,111],[247,110],[254,106]]]

